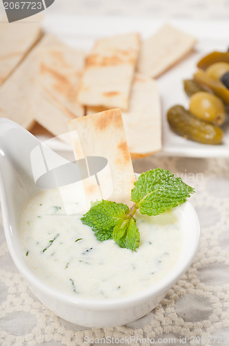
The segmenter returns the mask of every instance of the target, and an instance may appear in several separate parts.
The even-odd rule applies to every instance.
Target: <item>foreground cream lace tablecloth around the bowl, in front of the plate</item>
[[[0,226],[0,345],[229,345],[229,159],[151,156],[135,172],[162,167],[195,187],[201,224],[192,266],[157,307],[128,325],[89,329],[57,317],[15,268]]]

